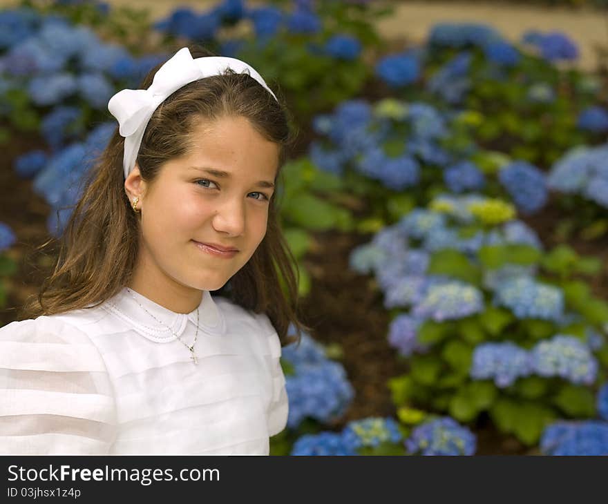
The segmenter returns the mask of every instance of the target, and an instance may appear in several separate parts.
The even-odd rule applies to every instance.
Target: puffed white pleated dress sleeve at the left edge
[[[41,316],[0,329],[0,454],[107,454],[116,407],[88,335]]]

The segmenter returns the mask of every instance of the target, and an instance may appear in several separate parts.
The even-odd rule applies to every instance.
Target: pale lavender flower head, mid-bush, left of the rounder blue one
[[[479,289],[464,282],[431,285],[412,315],[435,322],[465,318],[484,309],[484,296]]]

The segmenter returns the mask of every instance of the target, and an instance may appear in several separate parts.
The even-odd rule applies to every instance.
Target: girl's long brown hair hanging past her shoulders
[[[189,50],[193,58],[213,56],[200,46],[189,46]],[[149,88],[161,65],[150,70],[140,88]],[[186,154],[191,131],[200,121],[230,115],[245,117],[260,135],[280,147],[275,180],[276,193],[280,193],[281,167],[296,135],[283,98],[275,94],[281,103],[249,75],[232,70],[175,91],[146,126],[137,155],[142,178],[153,182],[162,164]],[[37,294],[26,300],[19,320],[96,307],[129,284],[139,250],[140,220],[124,191],[123,146],[116,128],[86,175],[82,196],[59,237],[53,272]],[[283,343],[294,340],[287,338],[293,323],[299,342],[301,331],[310,328],[298,320],[298,268],[281,231],[276,197],[269,205],[267,232],[258,249],[214,295],[223,295],[254,313],[266,313]],[[39,249],[55,242],[50,238]]]

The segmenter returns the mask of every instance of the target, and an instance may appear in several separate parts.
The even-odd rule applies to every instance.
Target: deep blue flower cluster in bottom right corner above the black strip
[[[540,449],[545,455],[608,455],[608,423],[598,420],[554,422],[544,428]]]

